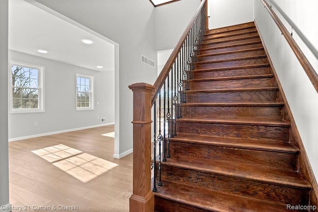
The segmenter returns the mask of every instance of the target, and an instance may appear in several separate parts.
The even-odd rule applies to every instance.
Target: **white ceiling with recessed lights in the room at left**
[[[24,0],[9,0],[10,50],[87,69],[114,71],[114,45],[100,37]],[[82,39],[93,43],[85,44]]]

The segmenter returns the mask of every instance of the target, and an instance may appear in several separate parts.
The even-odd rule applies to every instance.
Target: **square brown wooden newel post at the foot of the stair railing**
[[[133,103],[133,194],[129,199],[130,212],[154,212],[155,199],[151,190],[151,98],[155,87],[136,83],[129,88]]]

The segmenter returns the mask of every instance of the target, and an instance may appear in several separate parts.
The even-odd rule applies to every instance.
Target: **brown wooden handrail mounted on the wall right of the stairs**
[[[288,44],[292,48],[293,52],[295,53],[297,59],[299,60],[300,64],[304,68],[307,76],[309,77],[310,81],[312,82],[314,88],[316,89],[318,93],[318,74],[313,68],[313,66],[310,64],[302,50],[299,48],[297,43],[295,42],[294,38],[291,36],[289,31],[286,29],[282,21],[279,19],[279,17],[276,15],[274,10],[270,7],[270,5],[267,3],[266,0],[261,0],[264,4],[265,8],[269,12],[270,16],[273,18],[275,23],[277,24],[278,28],[281,30],[282,34],[284,35],[285,39],[287,40]]]

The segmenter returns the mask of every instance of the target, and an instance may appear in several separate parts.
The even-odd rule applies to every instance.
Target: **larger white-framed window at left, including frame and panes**
[[[10,61],[10,112],[44,112],[44,67]]]

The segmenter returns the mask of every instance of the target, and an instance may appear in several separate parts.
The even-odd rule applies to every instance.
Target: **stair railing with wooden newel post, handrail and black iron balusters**
[[[161,161],[170,156],[169,139],[176,135],[176,119],[182,117],[181,105],[186,101],[189,80],[192,79],[194,63],[206,29],[207,0],[201,0],[196,14],[179,39],[154,86],[146,83],[129,86],[133,91],[134,148],[130,212],[154,212],[153,192],[157,191],[157,186],[162,185]]]

